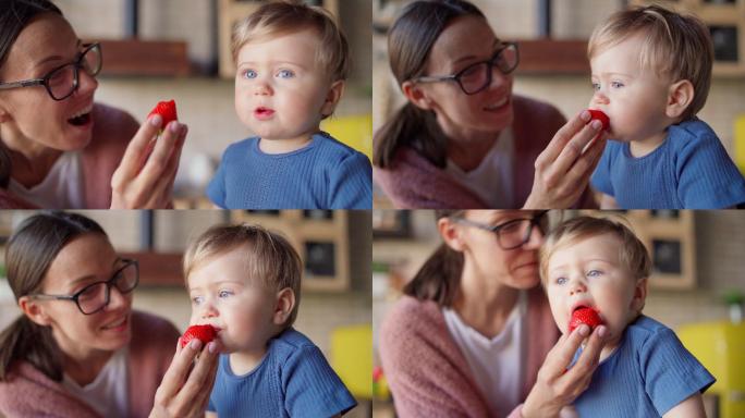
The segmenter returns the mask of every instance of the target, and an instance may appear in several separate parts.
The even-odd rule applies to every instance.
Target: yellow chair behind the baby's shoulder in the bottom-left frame
[[[340,327],[331,331],[331,367],[356,398],[373,398],[373,328]]]

